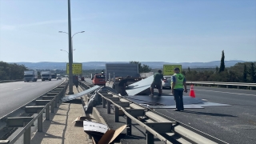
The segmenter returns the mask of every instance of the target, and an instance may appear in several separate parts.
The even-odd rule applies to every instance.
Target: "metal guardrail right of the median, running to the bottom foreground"
[[[86,82],[81,82],[82,86],[86,86]],[[86,86],[90,88],[90,86]],[[119,110],[122,110],[126,115],[126,134],[131,135],[131,120],[146,129],[146,143],[154,144],[154,136],[164,143],[173,143],[172,136],[177,134],[186,142],[191,143],[226,143],[218,138],[214,138],[209,134],[205,134],[190,126],[186,126],[181,122],[161,115],[154,110],[150,110],[145,106],[141,106],[132,102],[125,97],[118,96],[113,92],[101,90],[97,92],[102,98],[102,107],[107,109],[107,114],[110,114],[110,105],[114,105],[115,122],[119,122]],[[149,118],[150,122],[142,122],[139,118]]]

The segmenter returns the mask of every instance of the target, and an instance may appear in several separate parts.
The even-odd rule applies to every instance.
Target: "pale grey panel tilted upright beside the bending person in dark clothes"
[[[141,81],[135,82],[127,87],[126,93],[130,96],[138,94],[143,90],[150,88],[150,85],[153,82],[153,80],[154,80],[154,75],[148,78],[142,79]]]

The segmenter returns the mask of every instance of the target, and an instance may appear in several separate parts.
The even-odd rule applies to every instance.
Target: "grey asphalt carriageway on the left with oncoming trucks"
[[[52,81],[38,80],[38,82],[6,82],[0,83],[0,118],[23,106],[34,98],[52,90],[64,81],[52,79]]]

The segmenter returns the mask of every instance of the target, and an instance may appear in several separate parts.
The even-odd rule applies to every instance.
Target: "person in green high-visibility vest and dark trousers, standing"
[[[174,95],[175,102],[176,102],[176,109],[174,111],[184,110],[183,90],[185,93],[187,93],[186,78],[183,74],[180,74],[179,68],[175,68],[174,75],[172,76],[172,81],[171,81],[171,93]]]

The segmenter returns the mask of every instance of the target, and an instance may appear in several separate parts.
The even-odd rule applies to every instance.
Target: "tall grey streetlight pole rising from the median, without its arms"
[[[69,94],[74,94],[73,92],[73,53],[72,53],[72,39],[71,39],[71,14],[70,14],[70,0],[68,2],[68,25],[69,25]]]

